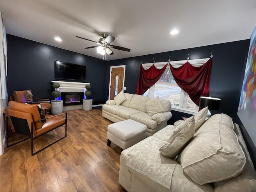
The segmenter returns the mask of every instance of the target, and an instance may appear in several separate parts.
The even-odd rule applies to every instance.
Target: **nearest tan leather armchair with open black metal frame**
[[[54,115],[54,116],[46,114],[45,118],[41,119],[40,113],[38,111],[38,107],[36,104],[29,105],[21,102],[10,101],[8,105],[9,106],[5,108],[5,112],[10,122],[10,126],[12,130],[14,130],[18,134],[26,135],[28,136],[28,138],[25,138],[23,140],[20,140],[18,142],[15,142],[9,145],[9,134],[7,132],[7,139],[6,139],[7,147],[13,146],[17,143],[20,143],[30,138],[31,154],[33,156],[67,136],[67,113],[66,112],[58,115]],[[46,122],[43,123],[42,120],[46,120]],[[65,125],[65,134],[62,138],[38,150],[37,152],[34,152],[34,139],[63,125]]]

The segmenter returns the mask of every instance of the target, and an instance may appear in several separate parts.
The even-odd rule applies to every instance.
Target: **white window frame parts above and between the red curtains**
[[[205,64],[210,58],[203,58],[203,59],[192,59],[192,60],[179,60],[179,61],[170,61],[169,63],[175,67],[178,68],[185,64],[186,62],[189,62],[193,66],[202,66]],[[163,68],[168,62],[154,62],[154,63],[143,63],[142,67],[144,69],[150,68],[153,64],[156,68]],[[154,90],[155,90],[155,84],[152,85],[149,90],[148,90],[148,97],[154,98]],[[196,114],[198,112],[199,107],[196,106],[196,109],[189,109],[186,108],[186,102],[188,98],[188,93],[186,93],[184,90],[181,89],[180,92],[180,103],[179,106],[174,106],[172,105],[171,110],[178,111],[178,112],[183,112],[187,114]]]

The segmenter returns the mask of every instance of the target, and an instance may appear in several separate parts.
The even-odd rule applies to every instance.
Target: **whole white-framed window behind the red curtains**
[[[207,60],[209,60],[209,58],[189,60],[189,63],[197,67],[202,66]],[[172,61],[170,62],[170,64],[173,67],[178,68],[186,62],[187,60]],[[158,62],[154,63],[154,65],[156,66],[156,68],[161,69],[166,65],[166,62]],[[152,66],[152,63],[142,64],[142,66],[144,69],[148,69]],[[158,82],[151,86],[143,95],[152,98],[159,96],[159,98],[170,100],[170,102],[172,103],[172,110],[175,111],[196,114],[199,109],[199,107],[194,102],[192,102],[192,100],[188,96],[188,93],[182,90],[178,86],[178,84],[176,84],[169,66],[166,67],[166,70],[164,71]]]

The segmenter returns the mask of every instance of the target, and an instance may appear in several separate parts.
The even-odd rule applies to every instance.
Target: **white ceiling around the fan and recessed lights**
[[[102,59],[76,36],[107,33],[131,49],[106,60],[249,39],[256,25],[256,0],[0,0],[0,12],[8,34],[36,42]]]

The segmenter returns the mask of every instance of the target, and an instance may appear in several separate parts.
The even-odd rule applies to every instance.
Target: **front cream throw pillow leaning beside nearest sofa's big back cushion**
[[[174,159],[185,148],[195,133],[194,116],[174,127],[173,132],[159,143],[159,151],[162,155]]]

